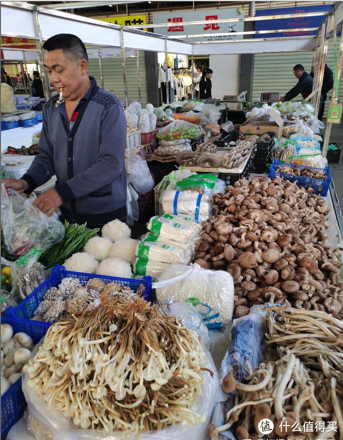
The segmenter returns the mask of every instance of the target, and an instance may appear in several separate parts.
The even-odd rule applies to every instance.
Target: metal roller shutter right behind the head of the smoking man
[[[102,74],[104,78],[104,88],[113,93],[118,99],[125,99],[123,68],[121,58],[102,58]],[[137,78],[137,60],[136,58],[125,59],[125,72],[127,94],[129,99],[139,99],[138,78]],[[88,74],[94,76],[99,87],[101,87],[99,61],[96,58],[88,60]],[[146,73],[144,52],[139,51],[139,76],[142,106],[147,103],[146,95]]]

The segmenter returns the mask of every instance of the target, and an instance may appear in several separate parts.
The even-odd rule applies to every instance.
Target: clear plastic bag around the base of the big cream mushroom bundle
[[[39,342],[33,350],[32,359],[37,351]],[[203,368],[211,370],[213,377],[207,371],[200,371],[199,375],[206,380],[201,384],[202,395],[199,396],[192,411],[204,415],[206,422],[194,427],[181,427],[180,423],[175,423],[159,431],[142,432],[140,440],[207,440],[208,425],[211,419],[213,407],[216,403],[218,393],[218,374],[212,356],[206,348],[203,348],[206,362]],[[81,429],[76,427],[72,420],[65,417],[63,412],[48,408],[47,403],[38,396],[36,389],[29,387],[28,373],[22,375],[22,392],[27,403],[26,425],[29,431],[35,436],[36,440],[122,440],[123,431],[112,432],[109,436],[104,435],[102,430]],[[26,438],[24,438],[27,440]],[[137,433],[126,433],[125,440],[137,440]]]

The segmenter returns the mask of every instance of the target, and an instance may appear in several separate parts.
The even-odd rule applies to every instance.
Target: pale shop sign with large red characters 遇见
[[[242,39],[243,35],[236,35],[236,32],[243,32],[244,22],[217,23],[216,20],[244,17],[243,7],[234,7],[228,9],[209,9],[192,10],[181,12],[161,12],[153,14],[154,24],[170,23],[169,27],[156,27],[155,33],[168,35],[178,38],[179,35],[199,35],[193,38],[183,38],[190,41],[223,41]],[[183,26],[185,21],[209,20],[207,24],[191,24]],[[230,35],[222,35],[230,33]],[[209,34],[208,36],[206,34]],[[216,35],[213,35],[216,34]]]

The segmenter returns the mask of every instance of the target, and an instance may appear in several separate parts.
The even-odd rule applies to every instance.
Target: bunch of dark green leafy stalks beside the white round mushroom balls
[[[63,264],[72,254],[82,252],[87,241],[99,232],[98,228],[85,229],[85,227],[86,223],[84,225],[69,225],[65,221],[63,240],[47,249],[39,258],[39,263],[49,269],[56,264]]]

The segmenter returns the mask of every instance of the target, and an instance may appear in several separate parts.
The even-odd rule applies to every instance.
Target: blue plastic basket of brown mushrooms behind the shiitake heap
[[[297,176],[293,174],[285,174],[285,173],[279,173],[275,172],[277,167],[279,166],[279,159],[274,159],[272,165],[269,168],[269,174],[268,177],[271,179],[274,179],[275,177],[281,177],[284,180],[289,180],[290,182],[295,182],[297,180],[298,186],[304,186],[304,188],[312,188],[314,190],[315,194],[320,194],[323,197],[326,197],[328,195],[330,183],[332,181],[331,176],[331,166],[326,166],[325,168],[315,168],[311,166],[304,166],[304,165],[294,165],[293,163],[282,163],[282,166],[290,166],[291,168],[310,168],[314,171],[324,171],[327,177],[325,179],[314,179],[313,177],[303,177],[303,176]]]

